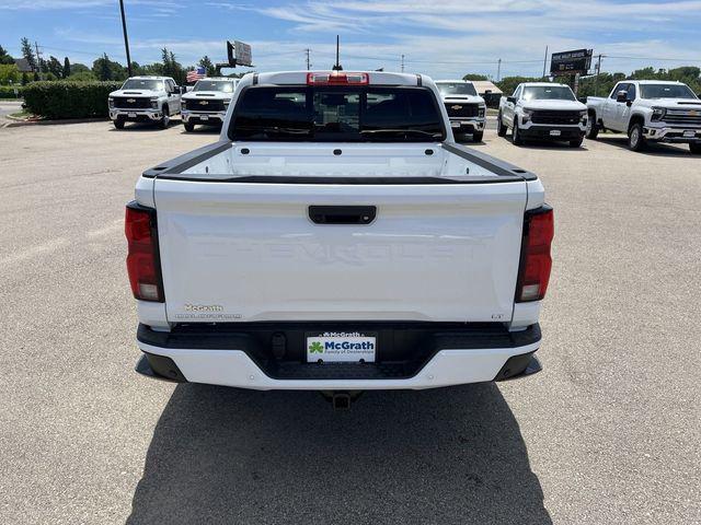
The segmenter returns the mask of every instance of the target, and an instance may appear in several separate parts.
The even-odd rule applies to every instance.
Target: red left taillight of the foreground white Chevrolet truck
[[[158,246],[153,234],[154,211],[127,205],[124,231],[127,236],[127,272],[134,296],[141,301],[163,302]]]

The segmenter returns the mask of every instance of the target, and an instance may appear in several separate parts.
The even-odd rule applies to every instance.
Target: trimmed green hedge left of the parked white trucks
[[[107,95],[120,82],[32,82],[24,86],[28,112],[48,119],[106,117]]]

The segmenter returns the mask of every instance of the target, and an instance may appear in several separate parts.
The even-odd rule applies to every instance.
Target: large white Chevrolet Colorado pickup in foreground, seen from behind
[[[343,407],[540,370],[552,208],[453,142],[427,77],[246,74],[218,142],[138,179],[126,235],[152,377]]]

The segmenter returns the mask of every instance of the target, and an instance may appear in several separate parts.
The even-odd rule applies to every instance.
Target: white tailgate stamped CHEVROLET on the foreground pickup
[[[154,182],[169,322],[510,320],[526,183]],[[310,206],[371,206],[317,224]]]

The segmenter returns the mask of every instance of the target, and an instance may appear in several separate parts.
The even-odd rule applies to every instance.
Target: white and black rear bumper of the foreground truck
[[[423,325],[423,326],[422,326]],[[540,347],[540,327],[519,332],[493,327],[382,324],[372,329],[379,341],[392,341],[384,352],[378,345],[376,363],[306,363],[295,347],[304,326],[253,330],[200,329],[157,332],[140,325],[137,345],[145,352],[137,365],[143,375],[175,382],[240,388],[299,390],[423,389],[503,381],[539,372],[533,353]],[[279,326],[279,325],[278,325]],[[468,325],[462,325],[468,326]],[[288,351],[277,358],[269,335],[285,334]],[[391,337],[390,337],[391,336]],[[384,338],[384,339],[383,339]],[[407,345],[395,341],[405,340]],[[261,343],[261,341],[264,341]],[[386,345],[387,347],[388,345]]]

